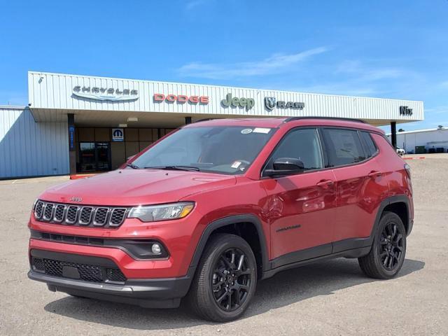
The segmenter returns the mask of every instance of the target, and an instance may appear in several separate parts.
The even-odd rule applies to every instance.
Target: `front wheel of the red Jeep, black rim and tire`
[[[215,322],[239,318],[257,285],[251,246],[239,236],[211,237],[197,266],[188,300],[196,314]]]

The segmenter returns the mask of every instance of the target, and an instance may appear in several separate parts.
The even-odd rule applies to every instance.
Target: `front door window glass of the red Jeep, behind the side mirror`
[[[305,170],[323,168],[321,144],[316,129],[293,130],[286,134],[274,150],[267,164],[272,169],[272,162],[278,158],[295,158],[304,164]]]

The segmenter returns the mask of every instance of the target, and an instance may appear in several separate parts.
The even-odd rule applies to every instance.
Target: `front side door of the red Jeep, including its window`
[[[335,176],[324,168],[321,139],[316,128],[288,132],[269,158],[265,169],[272,169],[278,158],[302,161],[304,172],[277,179],[262,180],[269,204],[271,256],[293,253],[276,260],[276,266],[310,255],[331,253],[332,225],[336,210]],[[328,246],[323,246],[328,244]],[[307,248],[316,248],[299,253]],[[325,251],[322,251],[322,248]],[[317,255],[314,255],[317,256]]]

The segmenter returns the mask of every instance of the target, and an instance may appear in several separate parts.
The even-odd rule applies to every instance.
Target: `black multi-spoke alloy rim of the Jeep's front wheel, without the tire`
[[[251,269],[246,255],[239,248],[229,248],[218,258],[211,274],[211,287],[218,306],[234,311],[248,297]]]

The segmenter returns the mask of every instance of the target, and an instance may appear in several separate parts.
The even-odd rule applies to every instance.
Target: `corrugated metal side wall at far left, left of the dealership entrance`
[[[27,108],[0,106],[0,179],[69,174],[67,123],[35,123]]]

